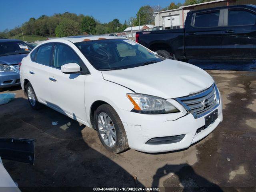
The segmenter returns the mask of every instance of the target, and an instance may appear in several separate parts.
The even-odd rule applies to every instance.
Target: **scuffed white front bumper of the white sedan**
[[[130,148],[142,152],[167,152],[188,148],[191,144],[210,134],[223,120],[222,105],[218,105],[218,118],[207,128],[196,133],[205,125],[205,116],[195,119],[190,113],[177,120],[169,120],[172,114],[147,115],[122,110],[122,122]],[[171,144],[146,144],[152,138],[185,134],[180,142]]]

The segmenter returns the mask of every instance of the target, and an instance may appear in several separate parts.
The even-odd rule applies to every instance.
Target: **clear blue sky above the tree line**
[[[31,17],[64,12],[90,15],[102,23],[115,18],[123,23],[135,17],[141,6],[166,7],[171,2],[184,0],[0,0],[0,31],[21,26]]]

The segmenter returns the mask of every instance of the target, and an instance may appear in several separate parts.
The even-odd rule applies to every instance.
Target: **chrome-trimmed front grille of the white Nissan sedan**
[[[220,104],[220,96],[215,83],[202,92],[176,98],[176,100],[184,106],[188,112],[192,113],[195,119],[211,112]]]

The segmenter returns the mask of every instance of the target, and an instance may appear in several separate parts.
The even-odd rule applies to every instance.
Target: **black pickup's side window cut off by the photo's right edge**
[[[256,14],[244,9],[228,10],[228,26],[254,25]]]

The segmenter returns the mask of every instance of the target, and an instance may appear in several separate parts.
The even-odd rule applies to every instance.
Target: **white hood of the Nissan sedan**
[[[201,68],[169,59],[135,68],[102,71],[102,75],[105,80],[136,93],[166,99],[197,93],[214,83],[212,77]]]

